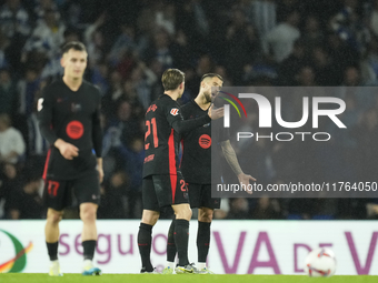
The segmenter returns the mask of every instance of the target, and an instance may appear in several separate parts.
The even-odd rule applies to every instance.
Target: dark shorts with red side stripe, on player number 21
[[[188,188],[180,172],[177,175],[149,175],[142,180],[143,210],[189,203]]]

